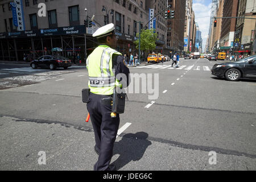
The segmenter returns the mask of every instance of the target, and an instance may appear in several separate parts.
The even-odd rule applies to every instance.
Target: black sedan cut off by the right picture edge
[[[215,64],[212,68],[212,75],[225,77],[229,81],[238,81],[240,78],[256,78],[256,55],[237,62]]]

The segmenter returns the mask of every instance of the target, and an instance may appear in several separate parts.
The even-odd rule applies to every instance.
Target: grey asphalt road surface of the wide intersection
[[[170,62],[130,69],[152,79],[139,84],[140,93],[128,89],[112,159],[119,170],[256,169],[256,81],[214,77],[214,63],[181,59],[179,69]],[[92,170],[94,134],[81,102],[86,69],[11,72],[0,67],[0,169]],[[40,151],[46,164],[38,163]]]

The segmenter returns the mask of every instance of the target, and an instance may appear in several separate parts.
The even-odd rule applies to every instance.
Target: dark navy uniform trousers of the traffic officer
[[[116,118],[112,118],[112,106],[110,104],[103,104],[102,98],[110,96],[103,96],[90,93],[87,110],[90,113],[90,120],[92,121],[96,150],[100,152],[98,161],[94,164],[94,171],[108,171],[109,164],[113,155],[113,147],[117,131],[119,128],[120,118],[117,114]]]

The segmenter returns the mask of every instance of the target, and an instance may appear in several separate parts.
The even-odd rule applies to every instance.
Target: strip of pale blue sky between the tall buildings
[[[210,26],[210,7],[212,7],[212,0],[193,0],[193,11],[195,12],[196,22],[202,32],[203,51],[207,42],[207,36]]]

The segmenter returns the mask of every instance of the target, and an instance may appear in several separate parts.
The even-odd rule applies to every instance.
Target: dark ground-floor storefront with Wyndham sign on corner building
[[[5,32],[0,34],[0,60],[23,60],[24,54],[30,59],[42,55],[52,55],[52,48],[63,49],[59,52],[72,58],[79,54],[82,61],[85,57],[85,26],[47,28],[40,30]],[[93,40],[91,35],[87,38]],[[86,41],[87,53],[97,46],[97,41]],[[89,48],[88,48],[89,47]],[[89,51],[88,51],[89,49]]]

